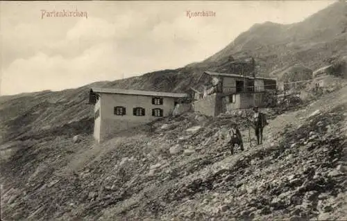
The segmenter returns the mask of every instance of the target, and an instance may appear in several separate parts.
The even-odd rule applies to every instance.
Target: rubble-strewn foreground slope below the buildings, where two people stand
[[[75,141],[54,133],[1,145],[3,219],[346,219],[346,92],[269,109],[264,144],[251,147],[242,125],[246,151],[234,155],[221,135],[242,118],[193,113],[102,145],[83,128]]]

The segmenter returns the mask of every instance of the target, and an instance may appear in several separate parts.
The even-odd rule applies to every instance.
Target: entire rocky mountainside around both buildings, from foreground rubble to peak
[[[260,73],[278,77],[296,63],[316,69],[344,59],[345,12],[341,2],[298,24],[253,26],[208,60],[176,70],[0,96],[3,219],[344,218],[346,87],[276,116],[264,145],[234,156],[216,135],[229,120],[194,114],[94,145],[87,93],[94,85],[187,91],[202,71],[222,69],[230,55],[253,55]],[[246,139],[247,128],[242,133]]]

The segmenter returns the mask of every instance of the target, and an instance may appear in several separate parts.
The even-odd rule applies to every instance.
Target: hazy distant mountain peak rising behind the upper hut
[[[317,69],[329,64],[329,58],[347,55],[346,11],[347,3],[337,2],[296,24],[255,24],[203,63],[218,63],[230,55],[252,55],[260,73],[273,71],[273,77],[280,77],[283,69],[294,64]]]

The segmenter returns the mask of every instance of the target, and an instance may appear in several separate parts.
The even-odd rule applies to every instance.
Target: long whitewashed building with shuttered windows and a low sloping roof
[[[94,138],[101,142],[122,130],[169,116],[180,98],[187,98],[187,94],[92,88]]]

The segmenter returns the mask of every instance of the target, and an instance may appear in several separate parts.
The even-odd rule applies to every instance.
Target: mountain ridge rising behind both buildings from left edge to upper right
[[[92,118],[93,108],[92,106],[87,105],[87,100],[88,91],[93,85],[117,87],[119,89],[187,92],[189,87],[196,86],[196,80],[203,71],[223,71],[228,67],[228,59],[230,56],[235,58],[235,60],[253,56],[253,58],[255,58],[255,63],[257,64],[257,76],[270,76],[271,78],[278,79],[282,78],[285,69],[289,69],[291,66],[296,64],[301,64],[304,67],[313,70],[330,64],[331,62],[341,60],[341,58],[344,58],[344,60],[347,61],[347,33],[341,33],[342,27],[340,25],[346,22],[347,27],[347,16],[344,14],[345,9],[347,11],[346,3],[333,3],[328,8],[317,12],[304,21],[296,24],[285,25],[285,27],[290,27],[289,29],[287,28],[288,30],[285,30],[285,33],[287,33],[289,31],[294,31],[293,27],[303,29],[307,24],[310,26],[311,24],[314,24],[314,27],[321,27],[333,23],[328,29],[334,30],[334,32],[328,35],[325,42],[312,42],[312,36],[318,36],[320,39],[323,35],[316,35],[314,32],[312,34],[310,31],[308,32],[310,35],[305,39],[304,44],[301,44],[301,42],[303,42],[302,39],[296,39],[296,41],[293,42],[291,41],[292,36],[277,36],[269,32],[269,27],[271,30],[275,27],[276,31],[280,33],[283,31],[283,25],[267,22],[265,24],[256,24],[250,30],[240,34],[239,37],[237,37],[232,43],[228,44],[228,46],[203,62],[194,62],[193,64],[187,64],[185,67],[178,69],[154,71],[151,73],[144,73],[142,76],[115,81],[94,82],[90,85],[78,87],[77,89],[67,89],[54,92],[41,91],[33,94],[22,94],[22,96],[0,96],[0,116],[6,116],[7,113],[11,113],[11,118],[1,118],[0,131],[3,132],[1,137],[3,141],[6,141],[10,138],[12,139],[13,136],[16,136],[15,134],[17,134],[18,128],[17,125],[13,125],[13,122],[15,121],[12,121],[12,118],[15,118],[16,116],[22,117],[23,114],[27,114],[27,116],[33,115],[33,113],[26,110],[33,109],[35,105],[38,107],[37,112],[47,114],[47,116],[51,116],[52,119],[55,119],[50,121],[51,125],[64,125],[70,121],[76,120],[76,117],[78,119]],[[330,15],[335,16],[332,18],[332,22],[324,21],[324,24],[320,25],[320,22],[323,22],[321,20],[330,17]],[[280,28],[278,29],[278,27]],[[258,34],[259,30],[262,30],[260,33],[263,35]],[[316,30],[316,28],[313,28],[312,30]],[[319,31],[319,33],[321,33],[321,31]],[[323,30],[323,33],[326,33],[326,31]],[[294,33],[291,33],[291,35],[296,36],[296,30]],[[300,35],[303,35],[303,33]],[[271,39],[273,38],[278,38],[280,39],[279,41],[282,41],[283,37],[290,40],[281,44],[277,44],[276,42],[276,44],[269,43],[272,42]],[[323,37],[326,36],[324,35]],[[262,42],[264,41],[267,41],[269,44],[262,45]],[[246,49],[244,51],[235,51],[234,45],[245,47]],[[249,50],[249,48],[252,48],[254,45],[259,46],[257,50]],[[55,107],[49,100],[56,100],[56,97],[61,97],[63,101],[60,102],[59,105],[56,104]],[[26,100],[32,100],[32,102],[27,102]],[[40,105],[40,103],[42,103],[42,105]],[[65,113],[64,108],[66,107],[71,109],[69,111],[71,114],[63,117],[62,113]],[[46,126],[46,123],[34,121],[35,118],[36,117],[31,116],[31,121],[28,122],[35,122],[35,131],[38,132],[42,130],[42,127]],[[58,121],[58,119],[62,120]],[[31,130],[33,128],[31,128]],[[30,133],[30,131],[27,133]]]

